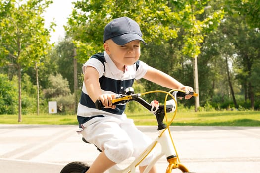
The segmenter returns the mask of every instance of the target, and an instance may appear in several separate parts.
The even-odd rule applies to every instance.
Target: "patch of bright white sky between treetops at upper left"
[[[45,18],[45,27],[50,26],[51,22],[56,23],[55,32],[51,32],[50,43],[57,43],[59,39],[64,38],[65,30],[63,25],[66,25],[67,18],[72,12],[73,5],[71,2],[76,0],[53,0],[53,3],[46,8],[43,14]]]

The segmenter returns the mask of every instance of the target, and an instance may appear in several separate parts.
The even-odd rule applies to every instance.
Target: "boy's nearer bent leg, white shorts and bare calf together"
[[[102,120],[88,125],[81,132],[87,141],[103,151],[86,173],[104,173],[115,163],[120,163],[132,156],[131,139],[118,125],[120,121],[113,117],[104,117]]]

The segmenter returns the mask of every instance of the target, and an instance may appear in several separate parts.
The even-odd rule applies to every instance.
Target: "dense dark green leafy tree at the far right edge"
[[[248,2],[252,1],[249,0]],[[249,5],[250,3],[247,3],[248,7]],[[231,8],[229,9],[228,7]],[[250,22],[248,15],[242,14],[241,11],[245,11],[244,7],[241,0],[227,3],[225,7],[227,10],[226,27],[223,33],[229,40],[229,43],[235,48],[235,52],[232,52],[233,55],[229,55],[230,57],[235,55],[234,72],[244,91],[244,99],[245,101],[249,99],[251,109],[254,109],[256,86],[252,84],[255,83],[255,80],[251,76],[254,69],[253,65],[258,62],[260,55],[260,32],[258,28],[252,28],[252,24],[255,22]],[[241,15],[237,15],[238,13]]]

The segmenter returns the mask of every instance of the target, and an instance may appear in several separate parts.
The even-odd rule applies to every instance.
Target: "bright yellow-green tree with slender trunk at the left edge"
[[[18,76],[18,122],[22,121],[21,71],[34,66],[46,54],[49,31],[41,14],[52,0],[3,0],[0,2],[0,62],[13,66]]]

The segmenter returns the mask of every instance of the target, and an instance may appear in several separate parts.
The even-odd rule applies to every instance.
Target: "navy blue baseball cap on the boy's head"
[[[125,45],[133,40],[140,40],[146,45],[142,36],[143,34],[136,21],[129,17],[120,17],[112,20],[105,26],[103,43],[108,39],[112,39],[118,45]]]

